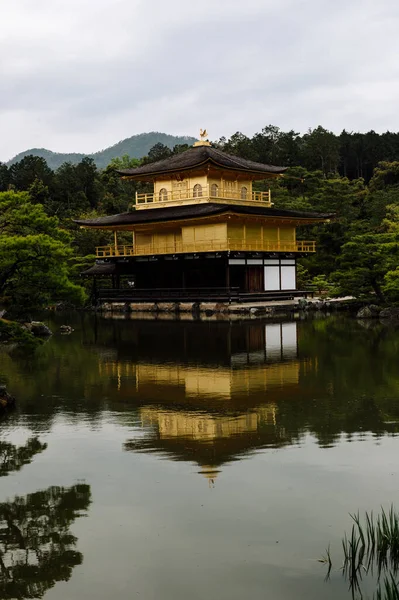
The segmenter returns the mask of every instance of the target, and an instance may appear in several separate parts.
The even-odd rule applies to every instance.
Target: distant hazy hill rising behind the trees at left
[[[146,156],[149,150],[155,146],[155,144],[161,143],[169,148],[173,148],[176,144],[193,144],[195,138],[189,136],[176,136],[168,135],[167,133],[159,133],[157,131],[151,131],[150,133],[140,133],[133,135],[130,138],[126,138],[114,146],[100,150],[94,154],[79,154],[76,152],[70,152],[63,154],[62,152],[52,152],[45,148],[31,148],[20,152],[17,156],[14,156],[7,165],[10,166],[20,161],[24,156],[33,154],[34,156],[40,156],[47,161],[48,166],[55,170],[58,169],[64,162],[70,162],[76,164],[82,160],[85,156],[92,158],[99,169],[104,169],[109,165],[112,158],[117,158],[128,154],[134,158],[142,158]]]

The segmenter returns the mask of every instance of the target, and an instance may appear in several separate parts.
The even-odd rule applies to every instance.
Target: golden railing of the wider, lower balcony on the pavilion
[[[299,240],[296,242],[249,242],[249,241],[197,241],[175,243],[150,243],[133,246],[99,246],[98,258],[113,256],[152,256],[159,254],[183,254],[196,252],[316,252],[316,242]]]

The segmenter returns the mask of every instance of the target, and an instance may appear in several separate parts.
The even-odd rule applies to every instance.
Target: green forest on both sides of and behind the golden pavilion
[[[298,287],[328,295],[399,302],[399,133],[340,135],[317,127],[304,135],[267,126],[213,142],[225,152],[289,169],[271,185],[276,207],[333,212],[330,223],[299,231],[318,251],[300,260]],[[93,264],[107,232],[73,219],[130,210],[145,184],[123,181],[118,168],[155,162],[189,146],[153,146],[147,156],[114,158],[104,169],[84,157],[56,170],[37,156],[0,163],[0,297],[35,309],[88,300],[79,273]],[[266,189],[266,182],[257,189]],[[148,191],[150,191],[148,189]],[[83,287],[82,287],[83,285]],[[86,284],[87,285],[87,284]]]

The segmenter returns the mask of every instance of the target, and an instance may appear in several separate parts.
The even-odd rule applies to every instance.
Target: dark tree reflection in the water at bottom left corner
[[[82,563],[70,527],[90,504],[90,486],[47,490],[0,503],[0,599],[42,598]]]

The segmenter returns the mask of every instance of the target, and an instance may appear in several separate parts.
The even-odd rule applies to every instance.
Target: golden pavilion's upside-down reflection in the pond
[[[180,323],[172,339],[163,325],[153,339],[148,322],[142,335],[136,323],[119,356],[104,352],[100,360],[119,398],[137,404],[144,436],[126,450],[193,461],[212,481],[224,463],[292,442],[278,401],[297,393],[306,368],[296,322]]]

